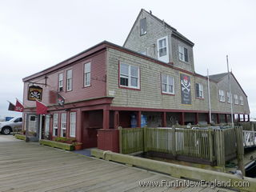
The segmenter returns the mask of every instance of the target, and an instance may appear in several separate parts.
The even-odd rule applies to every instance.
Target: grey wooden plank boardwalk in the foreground
[[[138,185],[139,181],[174,179],[0,135],[0,191],[231,191],[219,188]]]

